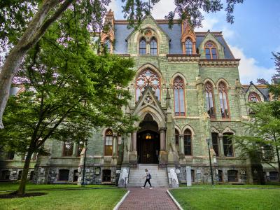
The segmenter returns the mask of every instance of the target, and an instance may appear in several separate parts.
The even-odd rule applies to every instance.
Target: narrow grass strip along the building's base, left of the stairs
[[[17,190],[19,183],[1,183],[0,182],[0,191],[3,190]],[[112,188],[116,187],[113,185],[88,185],[85,188]],[[66,188],[83,188],[78,185],[71,184],[48,184],[48,185],[36,185],[34,183],[27,183],[27,190],[44,190],[44,189],[66,189]]]

